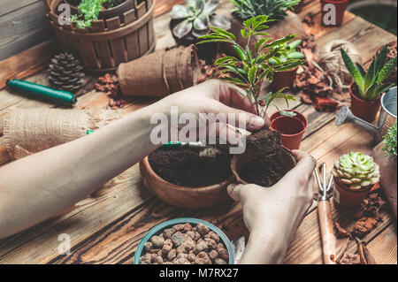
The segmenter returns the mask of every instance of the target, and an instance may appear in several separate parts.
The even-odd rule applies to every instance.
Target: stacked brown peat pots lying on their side
[[[201,67],[194,45],[157,50],[137,60],[120,64],[123,95],[164,97],[197,83]]]

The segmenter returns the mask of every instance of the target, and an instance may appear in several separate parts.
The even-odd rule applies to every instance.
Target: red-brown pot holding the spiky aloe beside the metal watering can
[[[367,122],[373,122],[380,110],[380,97],[376,100],[363,100],[356,95],[356,84],[352,82],[349,86],[349,94],[351,95],[351,111],[357,118],[362,118]]]

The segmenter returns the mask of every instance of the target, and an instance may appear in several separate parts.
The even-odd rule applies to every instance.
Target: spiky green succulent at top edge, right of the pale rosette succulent
[[[272,20],[286,17],[287,9],[292,9],[301,0],[231,0],[235,5],[233,15],[245,20],[260,15],[267,15]]]

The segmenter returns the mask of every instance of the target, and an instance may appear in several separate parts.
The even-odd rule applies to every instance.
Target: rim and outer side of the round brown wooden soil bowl
[[[230,199],[226,187],[233,182],[233,177],[207,187],[183,187],[160,178],[150,166],[148,156],[145,156],[140,162],[140,171],[142,182],[149,191],[172,206],[203,209]]]

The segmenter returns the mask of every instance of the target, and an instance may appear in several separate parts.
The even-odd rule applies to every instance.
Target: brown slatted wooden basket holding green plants
[[[91,27],[81,29],[73,23],[58,24],[57,7],[63,0],[44,0],[50,24],[64,50],[79,54],[88,72],[111,72],[120,63],[134,60],[155,50],[153,11],[155,0],[126,0],[110,10],[118,16],[104,13],[91,22]],[[126,6],[129,5],[129,6]],[[128,9],[131,7],[131,9]],[[127,8],[127,9],[126,9]],[[113,13],[114,15],[115,13]]]

